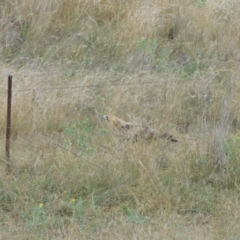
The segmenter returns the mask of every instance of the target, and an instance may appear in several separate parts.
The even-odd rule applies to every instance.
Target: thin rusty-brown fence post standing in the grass
[[[10,158],[10,137],[11,137],[11,106],[12,106],[12,76],[8,76],[7,96],[7,127],[6,127],[6,172],[11,173],[12,162]]]

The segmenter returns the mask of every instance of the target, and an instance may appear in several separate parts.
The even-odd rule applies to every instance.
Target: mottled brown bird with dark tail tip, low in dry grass
[[[143,138],[146,140],[162,138],[170,142],[178,142],[178,140],[169,133],[159,134],[151,127],[145,127],[139,124],[126,122],[114,115],[104,115],[103,118],[116,129],[128,130],[128,132],[131,130],[131,134],[127,135],[126,139],[133,138],[134,142],[136,142],[138,138]]]

